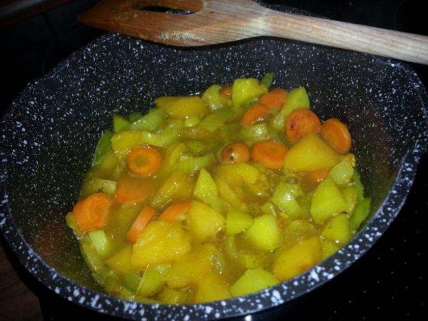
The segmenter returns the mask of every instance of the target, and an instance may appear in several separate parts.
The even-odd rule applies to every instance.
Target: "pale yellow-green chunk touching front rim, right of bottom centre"
[[[263,269],[247,270],[231,287],[232,296],[239,297],[274,286],[279,281],[271,273]]]

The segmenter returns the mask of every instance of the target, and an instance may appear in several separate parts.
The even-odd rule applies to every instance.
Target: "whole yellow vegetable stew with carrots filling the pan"
[[[293,278],[367,218],[351,134],[305,88],[235,79],[114,115],[67,215],[94,279],[148,303],[224,300]]]

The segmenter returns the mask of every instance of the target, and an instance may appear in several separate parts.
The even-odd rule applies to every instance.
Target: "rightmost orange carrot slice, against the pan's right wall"
[[[339,154],[346,154],[351,149],[351,134],[346,125],[337,118],[331,118],[321,126],[324,140]]]

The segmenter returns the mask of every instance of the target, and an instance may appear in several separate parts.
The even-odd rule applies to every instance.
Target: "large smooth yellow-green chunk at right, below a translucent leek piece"
[[[346,209],[346,201],[336,183],[327,178],[316,188],[311,204],[311,216],[316,223],[323,223],[331,216]]]

